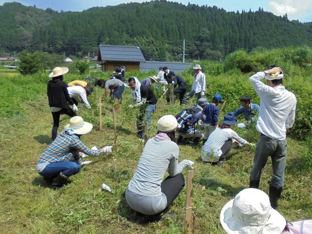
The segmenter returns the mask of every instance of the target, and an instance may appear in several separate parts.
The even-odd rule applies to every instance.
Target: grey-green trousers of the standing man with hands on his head
[[[287,141],[275,140],[267,136],[261,136],[258,140],[254,153],[254,167],[251,171],[251,180],[259,181],[262,169],[267,163],[268,157],[271,156],[273,176],[271,185],[283,187],[284,172],[287,158]]]

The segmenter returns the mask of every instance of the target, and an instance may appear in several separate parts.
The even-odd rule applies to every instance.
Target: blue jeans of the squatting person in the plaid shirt
[[[46,165],[42,172],[39,173],[40,176],[53,177],[58,176],[61,172],[64,176],[72,176],[78,173],[81,166],[76,162],[66,161],[66,162],[53,162]]]

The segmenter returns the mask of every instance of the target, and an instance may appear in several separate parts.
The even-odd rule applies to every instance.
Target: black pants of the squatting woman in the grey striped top
[[[174,177],[168,176],[162,181],[160,187],[161,192],[167,197],[167,206],[164,211],[168,210],[169,206],[173,203],[176,197],[180,194],[184,188],[185,182],[183,174],[180,173]]]

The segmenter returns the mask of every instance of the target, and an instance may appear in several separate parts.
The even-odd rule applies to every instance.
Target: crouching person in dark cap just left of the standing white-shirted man
[[[255,103],[250,102],[250,98],[248,96],[243,96],[240,98],[241,107],[239,107],[233,115],[236,117],[240,114],[243,114],[247,121],[254,121],[254,116],[259,113],[260,106]],[[247,123],[237,124],[238,128],[246,128],[248,127]]]

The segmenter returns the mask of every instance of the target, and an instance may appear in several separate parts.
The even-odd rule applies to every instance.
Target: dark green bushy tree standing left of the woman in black
[[[31,54],[27,50],[23,50],[18,54],[18,58],[20,61],[17,65],[19,66],[20,74],[32,75],[40,71],[41,61],[39,52]]]

